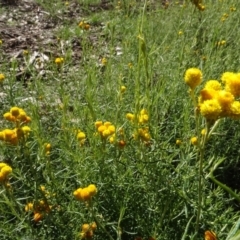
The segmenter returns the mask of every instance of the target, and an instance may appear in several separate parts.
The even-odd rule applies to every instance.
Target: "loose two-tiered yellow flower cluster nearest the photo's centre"
[[[132,113],[127,113],[126,118],[138,125],[138,129],[133,134],[135,140],[141,140],[144,143],[149,143],[151,135],[149,133],[149,127],[146,126],[149,121],[149,115],[146,109],[142,109],[139,114],[134,115]]]

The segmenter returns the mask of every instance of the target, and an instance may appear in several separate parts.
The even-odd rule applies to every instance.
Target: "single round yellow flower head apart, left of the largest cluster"
[[[198,68],[189,68],[185,72],[184,80],[186,84],[194,90],[202,81],[202,72]]]

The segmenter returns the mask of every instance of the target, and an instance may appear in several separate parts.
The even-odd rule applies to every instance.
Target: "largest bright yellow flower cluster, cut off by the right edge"
[[[230,117],[240,119],[240,73],[225,72],[222,84],[209,80],[200,92],[199,110],[207,120]]]

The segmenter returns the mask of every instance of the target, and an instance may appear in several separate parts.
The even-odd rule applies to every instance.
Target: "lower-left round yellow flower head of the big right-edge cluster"
[[[216,120],[220,116],[222,108],[216,99],[210,99],[200,104],[200,112],[206,119]]]

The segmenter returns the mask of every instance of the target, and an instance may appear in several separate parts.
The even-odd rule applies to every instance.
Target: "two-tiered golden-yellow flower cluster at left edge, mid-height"
[[[27,116],[23,109],[12,107],[3,117],[8,121],[14,122],[16,127],[14,129],[4,129],[0,131],[0,140],[16,145],[20,139],[25,139],[29,135],[31,131],[30,127],[22,125],[29,123],[31,118]]]

